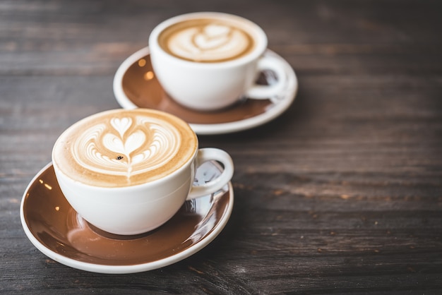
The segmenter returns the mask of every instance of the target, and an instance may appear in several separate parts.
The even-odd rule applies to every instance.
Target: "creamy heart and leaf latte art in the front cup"
[[[72,155],[80,166],[99,174],[142,174],[167,163],[179,148],[179,134],[160,122],[137,118],[111,119],[110,127],[92,126],[73,145]],[[162,123],[164,125],[164,123]]]

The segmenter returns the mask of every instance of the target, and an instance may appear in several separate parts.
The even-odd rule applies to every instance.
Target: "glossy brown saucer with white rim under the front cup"
[[[203,164],[196,179],[220,174]],[[198,182],[199,182],[198,181]],[[30,182],[20,207],[30,241],[59,263],[102,273],[129,273],[170,265],[201,250],[225,227],[233,206],[232,184],[223,191],[186,201],[162,227],[137,236],[96,229],[73,210],[61,193],[52,164]]]

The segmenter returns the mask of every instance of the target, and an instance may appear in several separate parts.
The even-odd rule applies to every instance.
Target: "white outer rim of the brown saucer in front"
[[[35,181],[37,181],[37,179],[44,173],[44,171],[49,169],[51,166],[52,162],[46,164],[42,169],[40,169],[40,171],[37,172],[37,174],[35,174],[32,180],[28,183],[28,186],[26,187],[20,202],[20,221],[26,236],[28,237],[30,242],[35,246],[35,248],[37,248],[44,255],[47,255],[47,257],[52,258],[56,262],[66,265],[68,267],[76,268],[78,270],[85,270],[88,272],[97,272],[103,274],[128,274],[135,272],[145,272],[148,270],[155,270],[160,267],[172,265],[181,260],[189,258],[191,255],[197,253],[198,251],[201,251],[205,246],[208,246],[208,244],[211,243],[221,233],[222,229],[225,228],[227,222],[230,219],[230,216],[232,215],[233,204],[234,204],[234,191],[233,191],[232,182],[229,181],[228,183],[229,189],[226,192],[229,193],[229,203],[227,203],[227,210],[225,210],[225,214],[222,216],[222,218],[220,218],[219,222],[215,224],[210,234],[204,236],[200,241],[193,244],[192,246],[189,246],[189,248],[186,248],[186,250],[176,254],[169,255],[166,258],[162,258],[160,260],[151,261],[149,263],[140,263],[136,265],[102,265],[96,263],[85,263],[80,260],[68,258],[64,255],[52,251],[50,248],[47,248],[47,246],[44,246],[44,244],[40,243],[40,241],[38,241],[38,239],[34,236],[34,234],[32,234],[32,231],[28,227],[28,224],[25,220],[25,210],[24,210],[25,198],[31,186],[35,183]]]

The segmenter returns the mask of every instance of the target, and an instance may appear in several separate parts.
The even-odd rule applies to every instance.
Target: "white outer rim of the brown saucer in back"
[[[136,109],[138,106],[129,100],[129,97],[124,93],[123,90],[123,77],[129,67],[134,64],[138,59],[143,58],[150,54],[149,47],[143,47],[139,49],[137,52],[134,52],[129,57],[127,57],[117,69],[117,72],[114,75],[113,80],[113,90],[114,97],[119,103],[121,107],[124,109]],[[193,131],[195,131],[198,135],[217,135],[217,134],[227,134],[234,133],[238,131],[244,131],[251,128],[255,128],[261,126],[273,119],[280,116],[283,112],[285,112],[290,105],[294,102],[297,92],[298,92],[298,79],[296,73],[294,73],[294,69],[292,66],[288,64],[288,62],[282,58],[282,56],[276,54],[270,49],[265,51],[265,54],[271,54],[278,59],[280,59],[285,64],[285,70],[288,75],[287,80],[290,84],[288,89],[286,90],[286,95],[277,103],[273,105],[267,112],[263,114],[258,114],[256,116],[252,116],[246,119],[242,119],[239,121],[226,122],[226,123],[218,123],[218,124],[193,124],[189,123]]]

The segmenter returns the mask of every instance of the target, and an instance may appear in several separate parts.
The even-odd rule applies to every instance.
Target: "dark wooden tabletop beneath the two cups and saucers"
[[[232,217],[174,265],[100,275],[54,262],[19,207],[54,140],[119,107],[115,71],[160,21],[255,21],[292,65],[275,121],[200,136],[236,172]],[[441,294],[440,1],[0,1],[0,293]]]

